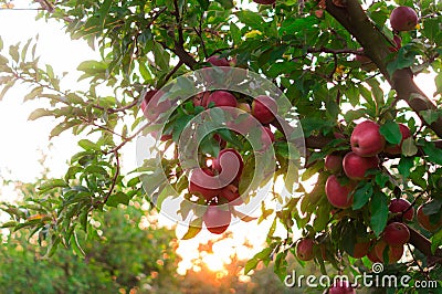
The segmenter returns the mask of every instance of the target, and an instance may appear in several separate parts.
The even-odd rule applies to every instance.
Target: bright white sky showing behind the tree
[[[25,8],[28,1],[14,1],[17,7]],[[24,43],[28,39],[39,34],[36,55],[41,56],[41,64],[51,64],[55,73],[69,72],[70,78],[64,83],[66,87],[85,88],[85,82],[78,83],[76,78],[80,73],[76,66],[84,60],[99,60],[99,54],[94,52],[84,41],[71,40],[64,33],[63,27],[54,21],[35,21],[35,11],[27,10],[0,10],[0,36],[4,42],[4,48],[18,42]],[[429,76],[420,75],[417,83],[430,97],[435,92],[434,83]],[[63,86],[63,84],[62,84]],[[51,140],[49,145],[49,134],[55,119],[42,118],[28,120],[29,114],[36,107],[44,106],[44,102],[32,101],[22,102],[22,97],[29,92],[23,85],[14,86],[0,102],[0,181],[1,179],[33,181],[42,172],[43,168],[39,162],[42,155],[46,155],[45,165],[50,167],[50,175],[60,177],[64,174],[69,158],[80,150],[80,147],[72,144],[72,135],[66,132]],[[134,153],[127,154],[126,162],[136,165]],[[1,186],[1,182],[0,182]],[[0,188],[0,201],[11,201],[15,199],[13,187],[3,185]],[[213,256],[207,256],[208,262],[220,267],[220,263],[214,260],[229,261],[229,255],[233,251],[239,258],[251,258],[260,250],[265,241],[266,231],[270,222],[264,222],[257,227],[255,223],[238,223],[232,230],[234,238],[223,240],[214,246]],[[259,229],[256,229],[259,228]],[[183,229],[178,230],[178,234],[183,233]],[[178,271],[183,273],[191,266],[190,260],[198,256],[198,245],[196,242],[206,243],[213,235],[203,230],[198,239],[183,241],[178,249],[178,253],[186,255]],[[244,241],[256,244],[255,249],[250,250],[242,244]],[[210,259],[212,261],[210,262]],[[218,264],[215,266],[215,264]]]

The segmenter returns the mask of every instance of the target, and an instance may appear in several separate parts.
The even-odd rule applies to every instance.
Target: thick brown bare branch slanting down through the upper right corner
[[[419,116],[422,111],[436,111],[436,106],[413,82],[410,69],[398,70],[391,76],[389,75],[387,71],[390,54],[388,46],[391,45],[389,40],[368,19],[359,1],[347,0],[346,3],[346,7],[340,8],[336,7],[332,0],[326,0],[327,12],[339,21],[362,45],[365,53],[378,65],[379,71],[398,93],[398,97],[406,101]],[[427,124],[422,117],[421,119]],[[442,138],[442,118],[429,125],[429,127]]]

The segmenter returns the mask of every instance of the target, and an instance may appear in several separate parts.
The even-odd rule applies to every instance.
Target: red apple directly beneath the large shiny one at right
[[[360,157],[355,153],[348,153],[344,156],[343,160],[344,172],[352,180],[362,180],[367,178],[365,176],[367,170],[377,168],[378,166],[379,158],[377,156]]]

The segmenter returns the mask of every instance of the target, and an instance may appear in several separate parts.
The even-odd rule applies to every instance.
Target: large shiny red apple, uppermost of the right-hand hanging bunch
[[[351,150],[361,157],[371,157],[382,151],[386,139],[379,133],[379,128],[372,120],[358,124],[351,133]]]

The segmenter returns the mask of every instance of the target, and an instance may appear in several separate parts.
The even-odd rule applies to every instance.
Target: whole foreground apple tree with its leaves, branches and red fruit
[[[78,65],[88,91],[63,88],[38,42],[0,42],[0,95],[25,84],[24,101],[50,103],[30,119],[57,118],[50,137],[72,132],[82,149],[25,204],[1,206],[3,228],[31,228],[48,258],[82,254],[77,232],[141,199],[185,225],[183,240],[270,222],[245,274],[272,262],[281,281],[291,263],[356,276],[382,263],[409,290],[441,288],[440,1],[38,2],[102,60]],[[128,151],[138,167],[125,172]]]

